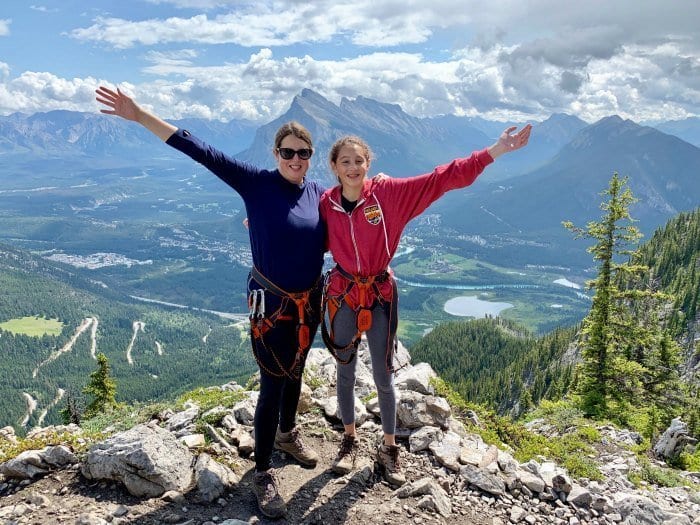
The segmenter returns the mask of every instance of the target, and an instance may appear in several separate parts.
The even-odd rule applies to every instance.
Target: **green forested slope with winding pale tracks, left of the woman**
[[[109,360],[118,401],[172,398],[198,386],[245,381],[257,370],[244,323],[138,303],[70,267],[6,246],[0,247],[0,289],[0,426],[22,431],[28,407],[23,394],[36,401],[25,427],[36,425],[43,412],[44,425],[60,422],[58,393],[80,396],[96,353]],[[29,317],[57,320],[62,329],[39,336],[8,328]],[[59,354],[72,340],[70,350]]]

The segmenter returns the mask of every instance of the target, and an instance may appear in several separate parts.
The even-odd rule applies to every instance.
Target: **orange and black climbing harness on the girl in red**
[[[392,355],[396,341],[396,327],[398,325],[398,291],[396,289],[396,281],[391,279],[391,275],[388,270],[384,270],[378,275],[372,275],[369,277],[361,277],[358,275],[352,275],[345,270],[343,270],[339,265],[336,265],[335,269],[345,277],[348,281],[348,285],[345,290],[339,295],[330,296],[328,294],[328,286],[330,282],[330,273],[326,273],[325,284],[323,287],[323,300],[322,300],[322,310],[321,310],[321,336],[323,337],[323,342],[326,347],[333,354],[333,357],[341,364],[347,364],[352,361],[353,357],[357,353],[358,345],[360,344],[360,339],[362,338],[362,332],[366,332],[372,327],[372,308],[375,306],[375,301],[379,303],[380,306],[389,309],[389,334],[387,341],[387,368],[392,369]],[[379,290],[378,284],[384,283],[386,281],[391,281],[392,286],[392,297],[386,300]],[[355,287],[358,287],[358,301],[357,304],[353,304],[354,301],[350,299],[350,291]],[[367,304],[368,292],[372,290],[376,297],[375,301],[371,305]],[[355,326],[357,327],[357,332],[353,336],[352,340],[345,346],[340,346],[335,343],[335,338],[333,336],[333,319],[338,313],[338,309],[345,302],[350,308],[355,312]],[[328,322],[326,322],[326,314],[328,314]],[[351,351],[352,350],[352,351]],[[348,351],[349,356],[344,359],[340,357],[340,354],[345,354]]]

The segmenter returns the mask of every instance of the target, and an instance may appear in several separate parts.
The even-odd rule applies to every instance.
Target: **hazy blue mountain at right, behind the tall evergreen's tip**
[[[556,235],[563,220],[584,225],[600,215],[600,193],[614,172],[628,177],[639,199],[632,216],[645,232],[700,204],[700,148],[612,116],[582,128],[538,169],[475,188],[478,202],[446,214],[482,233]]]

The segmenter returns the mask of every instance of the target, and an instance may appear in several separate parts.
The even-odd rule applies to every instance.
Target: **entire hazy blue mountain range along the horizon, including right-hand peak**
[[[274,134],[289,120],[312,132],[317,153],[309,176],[324,184],[333,182],[326,152],[341,135],[367,140],[375,156],[372,173],[404,177],[481,149],[511,125],[457,116],[417,118],[398,105],[365,97],[343,98],[335,104],[310,89],[297,95],[285,114],[257,128],[246,121],[173,123],[244,161],[271,167]],[[629,177],[639,198],[632,215],[645,233],[700,203],[700,149],[680,138],[700,136],[698,119],[653,128],[618,116],[588,124],[555,114],[533,125],[527,148],[501,157],[469,190],[452,192],[434,205],[445,224],[468,235],[515,236],[544,244],[556,258],[567,251],[561,221],[585,224],[596,218],[600,193],[613,172]],[[134,123],[69,111],[0,117],[0,157],[7,174],[34,170],[48,159],[66,167],[163,166],[183,161]],[[207,179],[202,184],[211,188],[217,182]],[[14,183],[21,184],[16,179]]]

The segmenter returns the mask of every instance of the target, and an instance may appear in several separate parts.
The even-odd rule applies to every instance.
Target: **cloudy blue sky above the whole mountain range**
[[[700,0],[3,0],[0,115],[269,122],[302,89],[417,117],[700,116]]]

